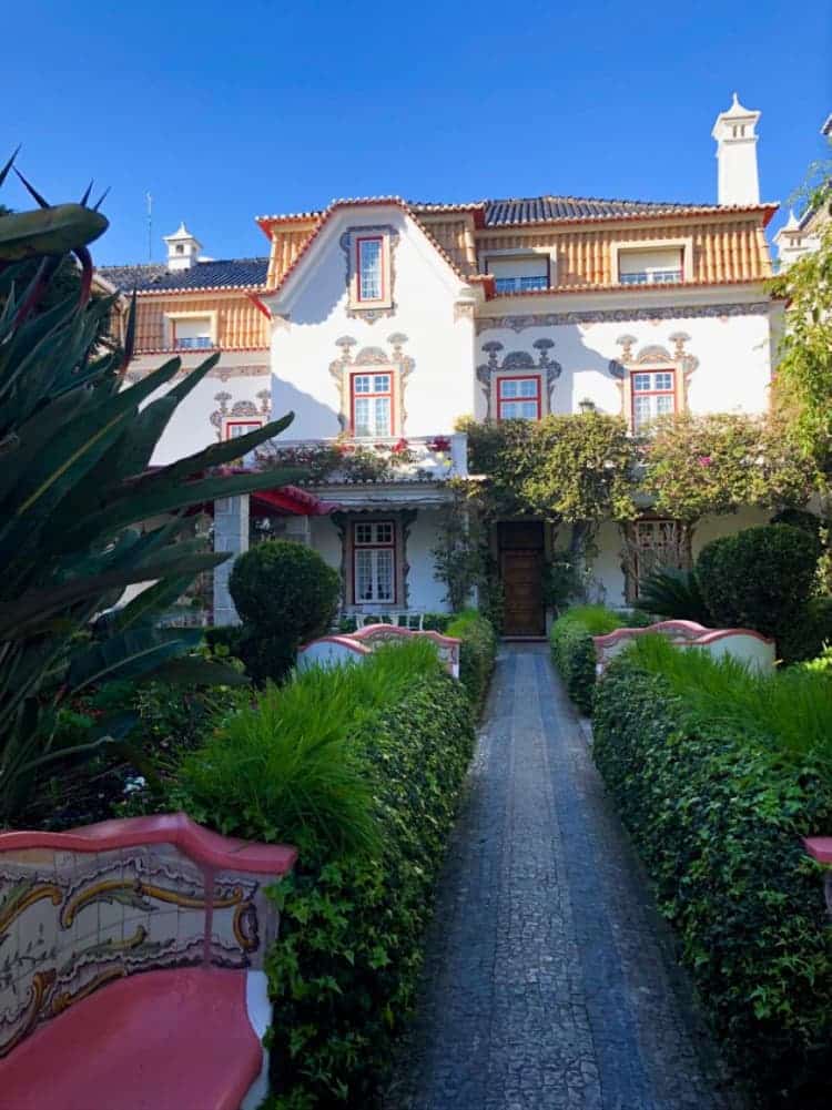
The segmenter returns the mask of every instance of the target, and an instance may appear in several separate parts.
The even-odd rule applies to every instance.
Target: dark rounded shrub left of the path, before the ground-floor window
[[[258,683],[279,682],[300,644],[332,624],[341,579],[311,547],[267,539],[235,561],[229,591],[243,622],[239,650],[247,670]]]

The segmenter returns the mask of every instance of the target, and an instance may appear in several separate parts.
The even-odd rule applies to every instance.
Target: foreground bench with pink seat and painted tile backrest
[[[254,1110],[295,856],[184,814],[0,834],[3,1110]]]

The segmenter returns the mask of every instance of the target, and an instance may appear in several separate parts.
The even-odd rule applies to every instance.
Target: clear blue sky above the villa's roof
[[[2,23],[0,153],[22,142],[52,202],[111,186],[101,264],[147,261],[147,192],[157,260],[182,219],[214,258],[262,254],[254,215],[333,196],[712,202],[734,89],[784,201],[832,111],[825,3],[34,0]]]

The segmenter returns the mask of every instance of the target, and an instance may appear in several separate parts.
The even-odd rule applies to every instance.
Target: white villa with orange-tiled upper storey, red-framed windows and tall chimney
[[[389,464],[360,477],[354,466],[332,470],[312,491],[331,511],[300,529],[340,571],[344,613],[448,607],[432,552],[453,503],[448,478],[468,473],[461,417],[539,420],[591,403],[639,432],[664,413],[765,411],[780,307],[764,285],[764,228],[776,205],[760,202],[759,117],[734,98],[716,119],[716,204],[371,198],[258,219],[270,253],[245,295],[268,357],[258,346],[242,363],[255,362],[259,390],[238,418],[248,428],[267,407],[275,417],[291,411],[281,448],[334,446]],[[247,354],[223,354],[228,381]],[[200,406],[215,403],[215,381],[202,384],[163,455],[204,435]],[[234,403],[209,416],[214,434],[234,434]],[[764,518],[749,509],[701,522],[694,554]],[[642,526],[654,541],[671,524],[648,516]],[[507,632],[544,632],[542,577],[555,542],[543,522],[498,526]],[[599,543],[593,592],[623,604],[633,584],[618,525],[604,525]]]

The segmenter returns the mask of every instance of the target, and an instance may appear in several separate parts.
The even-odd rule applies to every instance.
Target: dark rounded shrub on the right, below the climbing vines
[[[769,524],[711,541],[696,577],[718,626],[754,628],[780,640],[806,607],[821,554],[802,528]]]

